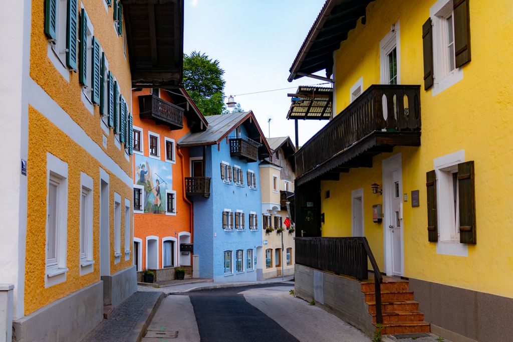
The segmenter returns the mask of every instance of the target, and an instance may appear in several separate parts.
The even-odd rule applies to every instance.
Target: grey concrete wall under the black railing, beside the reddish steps
[[[295,264],[295,295],[337,315],[362,331],[372,334],[372,316],[356,279]]]

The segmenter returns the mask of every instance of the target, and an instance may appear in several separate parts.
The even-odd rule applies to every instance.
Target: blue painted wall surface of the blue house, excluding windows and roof
[[[247,136],[241,125],[241,136]],[[257,280],[257,248],[262,246],[262,197],[260,192],[259,162],[247,162],[230,156],[229,138],[235,137],[235,129],[218,145],[207,145],[205,152],[205,176],[211,177],[210,197],[196,196],[194,201],[194,254],[199,255],[201,278],[213,278],[214,281]],[[190,157],[203,156],[203,146],[190,148]],[[221,164],[240,166],[243,185],[221,178]],[[247,171],[252,170],[257,180],[255,189],[249,187]],[[223,211],[242,211],[245,228],[243,230],[225,230],[223,228]],[[249,215],[255,213],[257,229],[250,230]],[[236,251],[243,251],[243,270],[236,271]],[[247,251],[252,250],[252,268],[248,268]],[[225,272],[225,251],[231,251],[231,272]],[[261,254],[261,253],[260,253]],[[260,260],[259,260],[260,264]]]

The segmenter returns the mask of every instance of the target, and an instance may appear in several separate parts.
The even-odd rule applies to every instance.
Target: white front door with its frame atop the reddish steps
[[[386,162],[386,163],[385,163]],[[404,269],[401,157],[383,162],[385,269],[387,275],[402,276]]]

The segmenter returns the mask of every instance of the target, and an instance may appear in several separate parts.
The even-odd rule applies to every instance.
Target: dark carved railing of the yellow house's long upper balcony
[[[393,136],[393,140],[383,139],[388,146],[403,145],[401,139],[405,145],[418,146],[420,111],[419,85],[371,85],[298,150],[297,177],[372,134]]]

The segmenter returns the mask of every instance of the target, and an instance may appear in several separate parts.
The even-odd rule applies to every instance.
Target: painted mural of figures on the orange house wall
[[[144,212],[166,214],[166,190],[172,188],[171,164],[144,157],[135,156],[135,184],[144,186]]]

